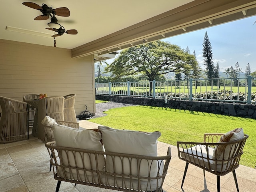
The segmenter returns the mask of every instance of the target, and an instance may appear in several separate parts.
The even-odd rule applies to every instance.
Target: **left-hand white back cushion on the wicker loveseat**
[[[64,125],[53,125],[52,130],[57,146],[80,148],[87,150],[103,151],[100,142],[102,136],[100,132],[91,129],[80,130],[67,127]],[[96,170],[96,162],[94,154],[88,156],[87,153],[72,153],[62,151],[60,160],[64,165],[77,166],[79,168],[87,168]],[[104,168],[104,156],[98,156],[98,168]]]

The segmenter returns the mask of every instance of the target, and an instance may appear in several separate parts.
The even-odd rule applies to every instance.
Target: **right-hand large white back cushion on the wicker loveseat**
[[[161,136],[160,132],[118,130],[107,126],[99,126],[98,129],[102,133],[106,152],[157,156],[157,139]],[[157,161],[141,160],[137,164],[135,158],[106,156],[106,169],[118,174],[140,174],[140,176],[148,177],[150,171],[150,176],[157,176],[159,167],[160,164]]]

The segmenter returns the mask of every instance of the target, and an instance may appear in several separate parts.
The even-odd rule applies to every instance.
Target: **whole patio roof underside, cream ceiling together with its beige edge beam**
[[[256,15],[256,0],[0,0],[0,39],[54,46],[54,31],[45,29],[50,18],[34,20],[42,13],[22,2],[67,7],[70,16],[56,16],[58,23],[78,34],[56,37],[56,46],[71,49],[72,58],[94,54],[95,60],[144,41]],[[36,35],[8,31],[7,26]]]

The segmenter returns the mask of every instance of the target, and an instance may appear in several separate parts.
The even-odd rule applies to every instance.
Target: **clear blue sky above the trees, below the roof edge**
[[[182,49],[188,48],[192,54],[196,52],[196,58],[200,66],[204,68],[202,61],[202,44],[207,31],[212,45],[214,64],[219,62],[220,71],[239,63],[242,72],[246,65],[250,64],[251,72],[256,70],[256,16],[228,22],[218,26],[212,26],[202,30],[163,39],[171,44],[176,44]]]

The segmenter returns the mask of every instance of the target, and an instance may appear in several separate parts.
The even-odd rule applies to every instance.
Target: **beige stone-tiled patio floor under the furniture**
[[[97,128],[98,124],[82,120],[84,128]],[[163,189],[166,192],[181,192],[180,188],[185,162],[177,156],[176,146],[158,142],[158,154],[166,155],[168,146],[172,149],[172,159],[168,175],[164,180]],[[49,172],[49,154],[44,142],[30,136],[29,140],[0,144],[0,192],[53,192],[57,181]],[[240,192],[256,191],[256,169],[240,166],[236,169]],[[204,185],[203,171],[193,165],[188,166],[188,172],[183,186],[183,192],[216,192],[216,176],[206,172]],[[236,192],[232,173],[220,177],[221,192]],[[62,182],[60,192],[110,192],[112,190],[83,186]]]

